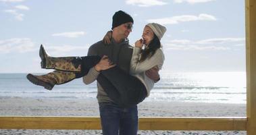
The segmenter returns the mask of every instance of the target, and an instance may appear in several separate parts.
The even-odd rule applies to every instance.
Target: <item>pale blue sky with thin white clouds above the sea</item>
[[[84,56],[123,10],[144,26],[167,28],[162,71],[245,72],[243,0],[0,0],[0,73],[42,73],[39,47],[55,57]]]

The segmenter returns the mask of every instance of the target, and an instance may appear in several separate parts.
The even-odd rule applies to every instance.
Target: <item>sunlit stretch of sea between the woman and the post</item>
[[[245,72],[163,72],[147,100],[246,103]]]

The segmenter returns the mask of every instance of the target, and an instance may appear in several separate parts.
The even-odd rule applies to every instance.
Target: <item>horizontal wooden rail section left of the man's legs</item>
[[[99,117],[0,117],[0,129],[100,130]]]

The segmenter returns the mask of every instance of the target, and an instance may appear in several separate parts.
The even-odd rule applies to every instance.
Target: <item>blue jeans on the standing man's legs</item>
[[[137,105],[124,108],[114,103],[99,103],[103,135],[136,135],[138,131]]]

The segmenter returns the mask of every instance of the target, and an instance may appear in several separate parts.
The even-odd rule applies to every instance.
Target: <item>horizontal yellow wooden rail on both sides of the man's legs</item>
[[[246,130],[246,117],[140,117],[139,130]],[[99,117],[0,117],[0,129],[100,130]]]

